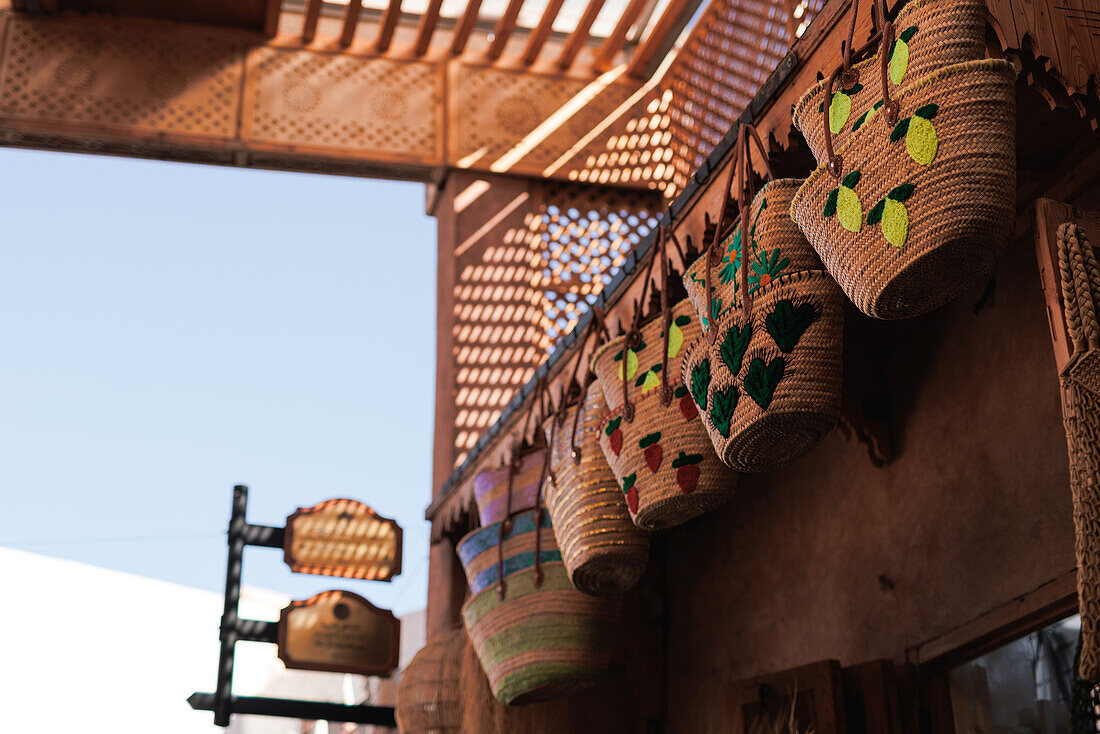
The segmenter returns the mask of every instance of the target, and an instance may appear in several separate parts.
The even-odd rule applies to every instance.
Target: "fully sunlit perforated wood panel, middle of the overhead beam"
[[[249,55],[242,138],[382,158],[441,155],[438,65],[262,48]]]

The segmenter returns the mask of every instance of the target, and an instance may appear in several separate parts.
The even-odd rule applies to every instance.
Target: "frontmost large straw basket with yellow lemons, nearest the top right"
[[[822,166],[799,189],[791,216],[868,316],[919,316],[990,275],[1015,222],[1014,80],[1000,59],[919,79],[894,97],[909,133],[872,111],[842,178]]]

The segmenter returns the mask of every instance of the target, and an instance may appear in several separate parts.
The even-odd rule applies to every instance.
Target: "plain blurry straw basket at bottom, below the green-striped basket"
[[[443,633],[425,645],[402,671],[394,709],[402,734],[462,731],[459,673],[465,646],[465,631]]]

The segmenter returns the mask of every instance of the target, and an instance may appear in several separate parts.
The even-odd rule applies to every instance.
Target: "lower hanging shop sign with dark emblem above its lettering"
[[[279,614],[278,656],[287,668],[388,676],[400,632],[393,612],[350,591],[324,591]]]

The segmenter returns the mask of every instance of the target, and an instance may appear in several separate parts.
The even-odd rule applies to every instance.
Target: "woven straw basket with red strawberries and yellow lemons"
[[[623,359],[624,337],[604,344],[592,360],[608,412],[600,421],[600,448],[627,499],[634,522],[646,529],[685,523],[729,499],[736,475],[714,453],[688,388],[680,383],[683,346],[701,335],[691,302],[672,307],[668,368],[661,372],[663,319],[641,326],[641,341]],[[635,406],[634,420],[623,415],[623,373]],[[661,402],[664,382],[672,401]]]

